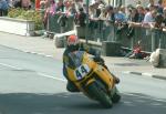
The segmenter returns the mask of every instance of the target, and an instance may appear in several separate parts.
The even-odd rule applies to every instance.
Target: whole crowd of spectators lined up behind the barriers
[[[32,8],[31,0],[0,0],[0,15],[7,15],[9,8]],[[74,17],[75,23],[84,27],[89,11],[91,28],[97,28],[98,20],[107,20],[123,28],[123,23],[132,27],[142,25],[149,28],[166,27],[166,7],[162,6],[162,0],[157,3],[149,0],[148,6],[143,7],[141,1],[136,6],[112,7],[103,0],[91,0],[86,8],[83,0],[40,0],[40,9],[44,9],[43,22],[46,24],[48,14],[55,13]],[[89,9],[89,10],[87,10]],[[120,29],[121,30],[121,29]],[[129,34],[128,34],[129,35]]]

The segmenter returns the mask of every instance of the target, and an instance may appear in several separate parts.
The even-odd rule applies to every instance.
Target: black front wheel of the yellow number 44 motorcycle
[[[112,100],[97,83],[90,84],[87,90],[89,94],[97,100],[104,107],[111,108],[113,106]]]

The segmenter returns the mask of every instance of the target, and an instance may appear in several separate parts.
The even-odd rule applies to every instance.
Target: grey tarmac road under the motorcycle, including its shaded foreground
[[[0,114],[166,114],[166,82],[114,72],[122,101],[105,110],[69,93],[62,61],[0,45]]]

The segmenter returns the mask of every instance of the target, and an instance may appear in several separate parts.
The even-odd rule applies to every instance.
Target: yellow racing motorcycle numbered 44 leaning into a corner
[[[85,51],[70,53],[68,64],[69,79],[87,97],[100,102],[104,107],[112,107],[121,100],[115,80],[110,71],[95,62]]]

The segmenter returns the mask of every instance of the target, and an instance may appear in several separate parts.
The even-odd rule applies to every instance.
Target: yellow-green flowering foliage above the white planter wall
[[[10,9],[8,17],[23,19],[23,20],[32,20],[34,21],[34,29],[42,29],[42,15],[40,11],[35,10],[24,10],[24,9]]]

